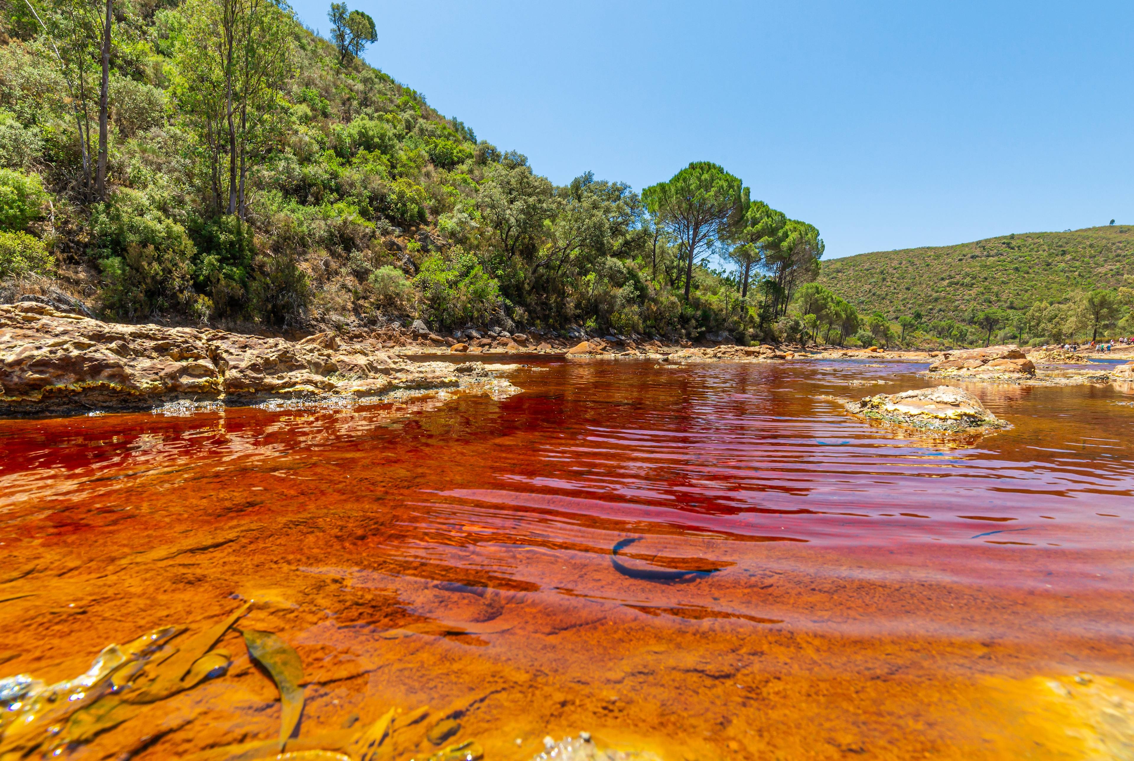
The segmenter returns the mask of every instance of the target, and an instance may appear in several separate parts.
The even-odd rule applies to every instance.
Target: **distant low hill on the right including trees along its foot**
[[[1034,343],[1134,329],[1134,227],[1031,232],[826,262],[819,282],[899,332]],[[916,330],[911,330],[916,328]]]

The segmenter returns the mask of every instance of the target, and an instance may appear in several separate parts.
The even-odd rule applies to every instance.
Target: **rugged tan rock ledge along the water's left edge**
[[[516,389],[497,378],[501,372],[479,362],[413,362],[378,339],[344,344],[318,333],[289,341],[107,323],[34,302],[0,305],[0,415],[441,389],[507,396]]]

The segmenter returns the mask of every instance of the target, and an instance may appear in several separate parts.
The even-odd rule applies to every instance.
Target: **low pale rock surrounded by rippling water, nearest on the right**
[[[1008,428],[975,396],[953,386],[879,394],[847,405],[852,414],[923,431],[971,432]]]

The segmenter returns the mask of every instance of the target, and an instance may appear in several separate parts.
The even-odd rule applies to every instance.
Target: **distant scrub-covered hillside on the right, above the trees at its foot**
[[[964,320],[1026,310],[1134,280],[1134,226],[1027,232],[954,246],[879,251],[823,262],[819,281],[870,313]]]

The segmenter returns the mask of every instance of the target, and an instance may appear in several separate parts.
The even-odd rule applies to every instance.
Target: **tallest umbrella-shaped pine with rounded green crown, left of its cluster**
[[[742,210],[741,180],[710,161],[694,161],[667,183],[642,192],[655,222],[680,242],[685,257],[685,301],[689,301],[693,262],[727,236]]]

